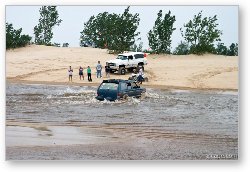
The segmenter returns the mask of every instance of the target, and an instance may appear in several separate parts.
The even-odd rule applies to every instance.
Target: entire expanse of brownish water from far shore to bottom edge
[[[235,92],[148,88],[140,99],[101,102],[96,89],[7,84],[6,158],[238,158]]]

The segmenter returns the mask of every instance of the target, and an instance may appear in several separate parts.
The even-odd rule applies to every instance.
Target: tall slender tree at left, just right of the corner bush
[[[59,19],[56,6],[42,6],[39,12],[39,23],[34,27],[35,43],[38,45],[51,45],[52,29],[55,25],[59,26],[62,20]]]

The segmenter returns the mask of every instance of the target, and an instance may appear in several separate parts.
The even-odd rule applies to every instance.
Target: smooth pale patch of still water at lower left
[[[112,133],[71,126],[6,127],[6,146],[52,146],[96,144],[111,139]]]

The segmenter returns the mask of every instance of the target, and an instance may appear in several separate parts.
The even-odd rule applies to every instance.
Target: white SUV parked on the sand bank
[[[147,65],[146,54],[142,52],[129,52],[118,54],[114,60],[109,60],[106,65],[110,66],[110,72],[118,71],[119,74],[125,75],[126,70],[138,69],[139,66],[144,70],[144,65]]]

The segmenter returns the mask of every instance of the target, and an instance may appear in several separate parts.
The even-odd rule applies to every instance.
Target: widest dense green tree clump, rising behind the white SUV
[[[114,53],[128,51],[139,35],[139,21],[139,14],[129,13],[129,7],[121,15],[103,12],[91,16],[80,32],[80,46],[107,48]]]

